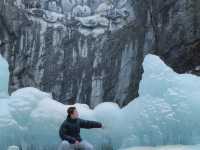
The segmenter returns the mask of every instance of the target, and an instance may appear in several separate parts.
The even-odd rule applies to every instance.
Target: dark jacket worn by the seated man
[[[59,135],[62,140],[67,140],[74,144],[75,141],[81,141],[80,128],[101,128],[102,124],[96,121],[88,121],[83,119],[67,118],[61,125]]]

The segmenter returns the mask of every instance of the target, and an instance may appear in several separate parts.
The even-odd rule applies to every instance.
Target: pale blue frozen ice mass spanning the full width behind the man
[[[0,149],[7,150],[10,145],[22,150],[56,149],[60,142],[58,128],[69,106],[54,101],[51,94],[31,87],[5,97],[8,65],[2,57],[0,59],[0,89],[4,93],[0,99]],[[82,130],[83,138],[93,143],[96,149],[112,146],[114,150],[199,144],[199,77],[178,75],[153,55],[146,56],[143,66],[140,96],[125,108],[102,103],[91,110],[87,105],[76,104],[81,118],[98,120],[105,125],[104,130]],[[190,150],[190,147],[181,150]]]

